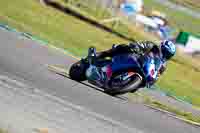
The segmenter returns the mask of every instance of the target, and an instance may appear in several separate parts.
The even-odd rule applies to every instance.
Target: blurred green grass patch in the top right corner
[[[164,5],[154,2],[154,0],[144,0],[144,3],[145,7],[149,10],[158,10],[165,13],[169,23],[175,28],[176,32],[184,30],[194,34],[200,34],[200,19],[194,18],[180,11],[169,9]]]

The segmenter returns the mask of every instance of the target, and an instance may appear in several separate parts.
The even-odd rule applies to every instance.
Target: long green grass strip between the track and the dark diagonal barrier
[[[126,42],[72,16],[41,6],[35,0],[1,1],[0,10],[1,22],[47,39],[79,56],[85,55],[91,45],[105,49],[113,43]]]

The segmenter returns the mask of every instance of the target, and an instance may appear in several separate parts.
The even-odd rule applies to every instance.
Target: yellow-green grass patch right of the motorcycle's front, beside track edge
[[[167,69],[158,85],[164,91],[185,97],[188,102],[200,106],[200,72],[176,62],[170,62]]]

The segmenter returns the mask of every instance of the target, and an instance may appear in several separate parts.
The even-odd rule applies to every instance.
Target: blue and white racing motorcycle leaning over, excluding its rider
[[[120,58],[121,55],[113,58],[96,58],[96,66],[104,67]],[[153,58],[143,55],[143,63],[139,63],[137,59],[131,61],[131,65],[126,68],[115,71],[106,86],[99,85],[96,81],[88,79],[86,71],[89,68],[88,57],[82,58],[78,62],[71,65],[69,76],[72,80],[81,82],[88,80],[89,83],[101,87],[104,92],[110,95],[120,95],[128,92],[136,92],[139,88],[151,86],[157,79],[156,63]],[[123,66],[124,64],[117,64]]]

